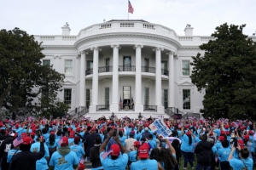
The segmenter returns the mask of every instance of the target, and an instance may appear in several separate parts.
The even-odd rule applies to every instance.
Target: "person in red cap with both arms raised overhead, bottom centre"
[[[110,150],[106,152],[105,148],[108,144],[109,139],[111,139],[112,137],[117,144],[112,144]],[[122,155],[120,155],[120,151],[122,152]],[[104,170],[125,170],[128,162],[128,150],[126,150],[125,146],[119,141],[118,133],[116,133],[116,136],[113,136],[113,129],[109,131],[108,138],[101,145],[100,153],[100,159],[102,161],[102,166],[104,167]]]

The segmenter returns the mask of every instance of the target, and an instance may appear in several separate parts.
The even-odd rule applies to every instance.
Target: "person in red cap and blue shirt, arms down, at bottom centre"
[[[131,163],[131,170],[137,169],[147,169],[147,170],[154,170],[158,169],[157,161],[148,159],[148,151],[149,146],[147,143],[143,143],[137,149],[137,155],[140,158],[139,161],[135,161]]]

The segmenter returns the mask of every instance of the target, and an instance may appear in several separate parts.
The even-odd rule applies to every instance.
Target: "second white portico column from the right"
[[[164,106],[161,101],[162,94],[162,73],[161,73],[161,50],[162,48],[155,48],[155,105],[157,105],[157,112],[163,112]]]

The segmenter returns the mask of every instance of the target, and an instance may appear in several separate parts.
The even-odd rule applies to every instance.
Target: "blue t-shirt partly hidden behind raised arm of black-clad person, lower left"
[[[49,156],[49,150],[46,144],[44,144],[44,157],[36,162],[36,169],[37,170],[45,170],[48,169],[47,160],[45,159],[46,156]],[[39,152],[40,151],[40,142],[36,142],[31,145],[30,151],[32,152]]]

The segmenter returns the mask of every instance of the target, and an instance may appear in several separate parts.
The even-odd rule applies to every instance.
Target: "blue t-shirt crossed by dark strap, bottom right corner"
[[[243,162],[244,163],[243,163]],[[241,168],[245,168],[244,164],[247,166],[247,170],[253,170],[253,159],[252,158],[247,158],[247,159],[236,159],[233,158],[230,160],[230,167],[233,167],[233,170],[241,170]]]

